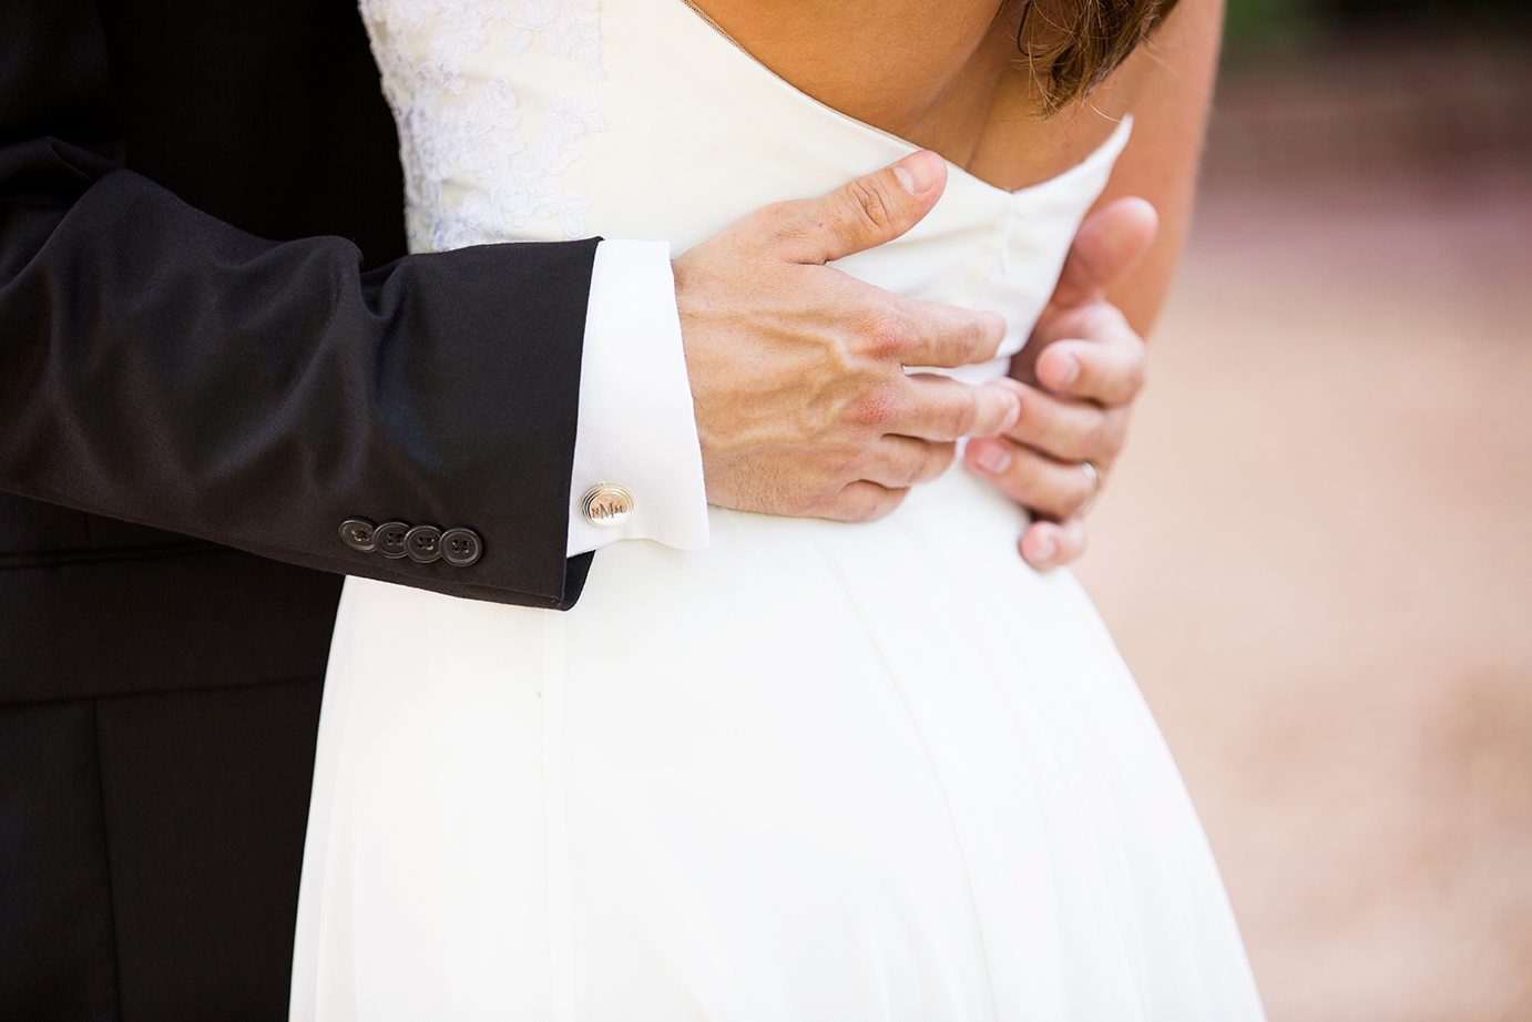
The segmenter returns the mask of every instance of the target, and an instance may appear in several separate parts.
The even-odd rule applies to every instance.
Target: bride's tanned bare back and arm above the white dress
[[[1052,116],[1017,49],[1025,5],[1014,0],[686,2],[821,103],[1002,188],[1068,170],[1132,113],[1134,139],[1102,202],[1140,195],[1160,210],[1160,242],[1111,296],[1147,328],[1181,248],[1223,0],[1181,0],[1151,44]]]

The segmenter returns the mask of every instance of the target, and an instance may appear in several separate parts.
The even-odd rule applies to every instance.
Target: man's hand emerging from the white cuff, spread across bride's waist
[[[867,521],[951,463],[959,437],[1016,424],[1020,391],[904,366],[994,357],[994,313],[905,299],[826,262],[904,234],[947,184],[905,156],[823,199],[780,202],[674,264],[708,501]]]

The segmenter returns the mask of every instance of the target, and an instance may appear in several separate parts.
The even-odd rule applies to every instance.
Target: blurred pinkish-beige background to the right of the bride
[[[1230,0],[1079,575],[1272,1022],[1532,1019],[1532,0]]]

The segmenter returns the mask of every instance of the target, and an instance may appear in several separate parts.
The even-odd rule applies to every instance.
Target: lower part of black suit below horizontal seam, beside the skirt
[[[0,1020],[286,1017],[322,680],[0,706]]]

